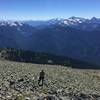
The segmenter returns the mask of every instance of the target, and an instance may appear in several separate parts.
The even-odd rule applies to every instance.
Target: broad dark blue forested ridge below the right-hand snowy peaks
[[[53,25],[30,36],[33,51],[69,56],[99,65],[100,31]]]

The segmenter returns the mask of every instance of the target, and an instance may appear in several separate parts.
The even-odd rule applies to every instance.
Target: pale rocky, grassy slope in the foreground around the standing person
[[[100,100],[100,71],[0,61],[0,100]]]

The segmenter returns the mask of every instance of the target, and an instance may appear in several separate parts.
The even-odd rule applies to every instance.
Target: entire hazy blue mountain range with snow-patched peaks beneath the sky
[[[52,53],[100,65],[100,18],[0,21],[0,47]]]

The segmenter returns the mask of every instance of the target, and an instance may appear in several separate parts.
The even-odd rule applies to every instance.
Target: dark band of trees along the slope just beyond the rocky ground
[[[13,48],[1,48],[0,58],[6,60],[12,60],[17,62],[37,63],[37,64],[52,64],[52,65],[64,65],[73,68],[85,68],[85,69],[99,69],[100,67],[70,57],[58,56],[43,52],[32,52],[25,50],[18,50]]]

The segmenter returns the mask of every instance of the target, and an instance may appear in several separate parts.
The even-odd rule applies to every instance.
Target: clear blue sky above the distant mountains
[[[100,18],[100,0],[0,0],[0,19]]]

